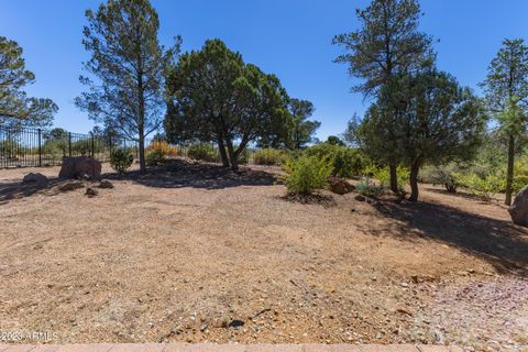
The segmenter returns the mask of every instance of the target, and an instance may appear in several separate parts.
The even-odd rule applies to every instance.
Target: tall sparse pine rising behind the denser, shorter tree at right
[[[349,73],[362,79],[353,91],[365,98],[377,98],[380,90],[394,75],[413,73],[429,66],[435,61],[431,37],[418,31],[420,6],[417,0],[373,0],[364,10],[356,10],[361,29],[337,35],[333,44],[343,46],[346,53],[336,58],[337,63],[349,64]],[[385,158],[391,169],[391,188],[396,191],[397,155],[395,146],[394,108],[383,112],[386,144]]]

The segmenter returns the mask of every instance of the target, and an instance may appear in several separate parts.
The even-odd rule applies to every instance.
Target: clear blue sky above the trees
[[[52,98],[59,112],[54,124],[74,132],[91,130],[92,122],[73,103],[82,48],[84,12],[96,0],[1,0],[0,35],[24,48],[26,67],[36,75],[28,91]],[[353,80],[345,65],[333,64],[340,48],[334,34],[358,28],[355,8],[367,0],[154,0],[161,19],[160,38],[169,43],[180,34],[184,51],[219,37],[246,62],[276,74],[292,97],[316,106],[322,122],[320,139],[342,133],[354,112],[367,102],[350,94]],[[421,0],[422,31],[436,44],[440,69],[476,88],[506,37],[528,40],[527,0]]]

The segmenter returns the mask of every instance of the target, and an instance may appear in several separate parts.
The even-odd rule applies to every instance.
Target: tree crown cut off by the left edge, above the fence
[[[25,69],[19,44],[0,36],[0,123],[11,127],[51,124],[57,106],[51,99],[30,98],[23,90],[34,81],[35,75]]]

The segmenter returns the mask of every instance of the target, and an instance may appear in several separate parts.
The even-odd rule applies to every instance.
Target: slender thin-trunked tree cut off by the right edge
[[[512,205],[515,154],[527,134],[528,47],[524,40],[506,40],[482,84],[487,107],[507,136],[506,205]]]

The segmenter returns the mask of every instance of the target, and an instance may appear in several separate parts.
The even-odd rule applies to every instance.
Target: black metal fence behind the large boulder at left
[[[108,162],[117,147],[138,154],[136,142],[127,139],[0,125],[0,168],[54,166],[61,165],[65,156],[80,155]]]

